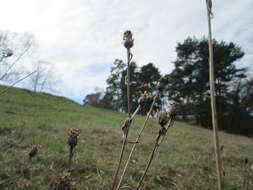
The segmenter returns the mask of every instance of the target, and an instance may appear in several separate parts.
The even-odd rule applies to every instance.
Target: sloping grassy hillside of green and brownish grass
[[[3,88],[0,86],[0,91]],[[53,189],[56,178],[67,169],[70,127],[81,129],[73,160],[74,189],[110,189],[125,117],[83,107],[63,97],[10,89],[0,95],[0,189]],[[130,139],[134,139],[143,120],[134,120]],[[136,185],[157,131],[156,121],[150,121],[124,184]],[[226,189],[253,189],[252,139],[225,133],[220,134],[220,139]],[[38,145],[39,152],[29,161],[32,145]],[[248,164],[244,164],[246,157]],[[212,132],[176,122],[151,165],[144,189],[216,189]]]

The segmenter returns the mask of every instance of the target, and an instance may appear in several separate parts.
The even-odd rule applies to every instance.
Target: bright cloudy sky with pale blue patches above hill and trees
[[[253,1],[213,1],[213,37],[245,51],[239,66],[253,64]],[[61,75],[60,95],[81,102],[105,79],[115,58],[126,59],[122,34],[133,31],[138,65],[173,69],[175,47],[207,35],[205,0],[2,0],[0,30],[30,32],[41,59]],[[253,73],[252,73],[253,75]]]

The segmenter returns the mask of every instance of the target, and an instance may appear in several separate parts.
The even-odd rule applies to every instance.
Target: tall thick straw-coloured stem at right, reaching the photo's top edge
[[[210,95],[211,95],[211,107],[212,107],[212,123],[213,123],[213,142],[215,147],[216,158],[216,170],[218,179],[218,189],[223,190],[222,182],[222,167],[220,158],[220,145],[218,136],[218,120],[216,112],[216,100],[215,100],[215,83],[214,83],[214,63],[213,63],[213,41],[212,41],[212,28],[211,28],[211,8],[212,1],[206,0],[207,5],[207,17],[208,17],[208,42],[209,42],[209,78],[210,78]]]

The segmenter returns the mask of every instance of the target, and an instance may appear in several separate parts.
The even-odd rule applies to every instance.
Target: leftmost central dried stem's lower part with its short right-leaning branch
[[[136,110],[134,111],[134,113],[130,117],[130,121],[132,121],[134,119],[136,114],[139,112],[140,108],[141,108],[140,105],[136,108]],[[119,163],[118,163],[117,170],[115,172],[114,179],[113,179],[112,190],[114,190],[114,188],[116,186],[117,179],[118,179],[118,174],[119,174],[119,170],[120,170],[120,167],[121,167],[121,164],[122,164],[122,159],[123,159],[125,147],[126,147],[127,142],[128,142],[128,132],[129,132],[129,129],[124,134],[124,139],[123,139],[122,148],[121,148],[120,157],[119,157]]]

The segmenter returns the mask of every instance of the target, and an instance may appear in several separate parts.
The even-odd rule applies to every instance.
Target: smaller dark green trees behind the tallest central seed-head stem
[[[126,64],[122,60],[116,59],[111,68],[111,74],[106,80],[107,88],[103,99],[100,102],[101,107],[114,109],[117,111],[127,111],[127,86],[125,83]],[[156,82],[161,77],[158,68],[153,63],[148,63],[138,67],[136,63],[130,63],[131,80],[131,111],[138,106],[137,100],[141,93],[147,91],[151,94],[155,92]],[[103,106],[104,105],[104,106]],[[146,114],[149,106],[144,106],[140,110],[141,114]]]

